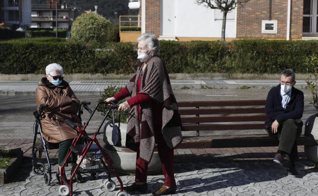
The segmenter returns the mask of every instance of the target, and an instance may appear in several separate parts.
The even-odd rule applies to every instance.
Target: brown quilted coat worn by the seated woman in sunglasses
[[[81,102],[65,80],[61,85],[54,86],[43,77],[35,90],[35,98],[37,109],[43,103],[48,105],[44,108],[45,118],[41,120],[43,136],[48,142],[60,143],[77,136],[76,131],[65,123],[65,119],[81,126],[76,116]]]

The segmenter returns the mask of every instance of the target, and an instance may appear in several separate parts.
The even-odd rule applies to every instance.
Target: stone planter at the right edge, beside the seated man
[[[311,115],[305,123],[305,135],[318,141],[318,114]],[[307,158],[318,164],[318,146],[305,146],[304,148]]]

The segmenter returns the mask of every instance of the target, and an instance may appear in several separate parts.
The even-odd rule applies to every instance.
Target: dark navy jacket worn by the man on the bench
[[[266,99],[266,117],[265,126],[271,127],[275,120],[279,124],[287,119],[300,119],[304,111],[304,93],[295,87],[292,88],[292,97],[284,109],[281,104],[280,85],[274,87],[268,93]]]

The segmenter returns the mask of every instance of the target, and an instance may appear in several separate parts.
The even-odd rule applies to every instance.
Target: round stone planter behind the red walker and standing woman
[[[105,145],[106,153],[108,153],[113,162],[115,170],[122,174],[135,174],[136,171],[136,156],[137,153],[125,147],[127,124],[120,123],[121,144],[122,147],[112,146],[112,128],[107,127],[106,136],[108,143]],[[148,165],[148,174],[153,174],[161,171],[161,162],[158,152],[153,153],[152,159]]]

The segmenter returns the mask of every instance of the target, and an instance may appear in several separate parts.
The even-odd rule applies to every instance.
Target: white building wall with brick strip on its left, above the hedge
[[[160,10],[158,10],[160,9]],[[146,32],[184,39],[219,38],[222,13],[197,5],[193,0],[147,0]],[[226,37],[236,37],[236,12],[228,14]]]

